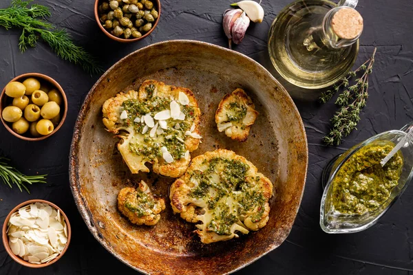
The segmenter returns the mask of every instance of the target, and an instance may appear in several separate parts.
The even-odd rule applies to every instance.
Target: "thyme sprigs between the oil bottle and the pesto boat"
[[[357,129],[356,126],[360,120],[361,109],[366,106],[368,98],[368,76],[372,73],[376,50],[377,48],[374,48],[372,56],[358,69],[349,72],[348,76],[333,85],[332,89],[321,94],[319,100],[326,103],[340,88],[343,88],[343,91],[335,101],[335,104],[341,108],[330,120],[332,124],[330,133],[323,137],[323,141],[326,144],[339,145],[343,137],[348,136],[353,129]],[[360,72],[363,74],[354,80],[353,85],[348,86],[350,79],[357,76]]]

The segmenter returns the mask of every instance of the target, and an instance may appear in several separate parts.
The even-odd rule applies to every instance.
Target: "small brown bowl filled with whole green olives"
[[[67,98],[61,85],[44,74],[13,78],[0,95],[0,119],[22,140],[44,140],[58,131],[67,115]]]

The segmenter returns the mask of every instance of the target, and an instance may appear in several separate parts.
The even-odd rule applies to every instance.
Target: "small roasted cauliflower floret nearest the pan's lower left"
[[[118,194],[118,209],[136,225],[156,225],[165,210],[164,199],[153,197],[151,190],[140,181],[138,188],[125,187]]]

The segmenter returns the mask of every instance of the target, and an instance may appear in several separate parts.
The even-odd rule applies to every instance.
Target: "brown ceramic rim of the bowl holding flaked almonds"
[[[41,263],[36,264],[36,263],[29,263],[28,261],[24,261],[23,259],[20,258],[20,256],[14,255],[12,252],[12,249],[10,248],[10,245],[8,243],[8,236],[6,234],[7,231],[7,224],[8,221],[10,219],[10,216],[14,213],[17,212],[17,210],[19,210],[19,208],[22,208],[23,206],[27,206],[30,203],[46,203],[56,209],[59,209],[61,214],[63,215],[63,217],[65,218],[65,222],[67,224],[67,243],[65,245],[65,248],[63,248],[63,251],[61,252],[61,254],[59,254],[59,256],[57,256],[55,259],[53,259],[52,261],[50,261],[49,263]],[[61,259],[61,257],[63,256],[63,254],[65,254],[67,248],[69,247],[69,243],[70,243],[70,238],[72,237],[72,228],[70,228],[70,222],[69,219],[67,219],[67,216],[65,214],[65,212],[63,212],[63,210],[61,210],[61,208],[59,208],[59,206],[56,206],[56,204],[51,203],[50,201],[45,201],[43,199],[30,199],[30,201],[24,201],[22,203],[20,203],[18,206],[16,206],[15,208],[13,208],[10,213],[8,214],[8,216],[6,217],[6,220],[4,220],[3,223],[3,246],[6,249],[6,251],[8,252],[8,254],[10,255],[10,257],[16,261],[17,263],[20,263],[21,265],[24,265],[26,267],[32,267],[32,268],[40,268],[40,267],[47,267],[48,265],[52,265],[52,263],[56,263],[56,261],[58,261],[59,259]]]

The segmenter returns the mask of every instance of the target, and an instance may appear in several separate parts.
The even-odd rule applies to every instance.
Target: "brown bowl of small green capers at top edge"
[[[96,0],[94,8],[100,30],[123,43],[144,39],[160,17],[160,0]]]

